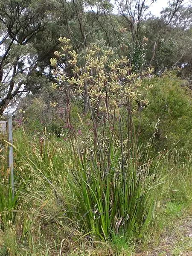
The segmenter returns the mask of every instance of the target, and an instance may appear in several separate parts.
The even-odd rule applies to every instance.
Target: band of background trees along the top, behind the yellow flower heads
[[[177,6],[172,17],[174,1],[160,18],[148,17],[150,2],[155,3],[133,0],[119,6],[118,2],[94,0],[1,0],[0,113],[23,93],[37,94],[49,81],[56,81],[49,59],[59,50],[60,36],[70,38],[79,54],[100,42],[116,55],[127,56],[136,72],[147,66],[162,72],[183,64],[184,71],[190,70],[191,7]],[[66,68],[66,75],[73,75],[71,71]],[[190,77],[190,72],[183,75]]]

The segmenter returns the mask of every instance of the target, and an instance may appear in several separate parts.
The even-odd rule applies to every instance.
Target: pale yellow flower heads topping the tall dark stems
[[[80,56],[75,50],[71,50],[70,39],[59,38],[61,42],[61,52],[55,52],[56,57],[65,56],[67,64],[64,69],[70,67],[73,76],[66,76],[65,70],[61,70],[61,65],[57,65],[58,60],[52,58],[51,65],[54,67],[53,73],[57,77],[58,84],[70,86],[70,93],[75,96],[87,97],[87,105],[93,111],[111,111],[118,109],[121,102],[131,102],[133,100],[145,101],[138,92],[142,86],[141,78],[151,73],[151,69],[138,74],[134,73],[134,66],[131,66],[125,56],[115,58],[112,49],[102,49],[98,45],[91,45],[85,50],[84,61],[79,61]],[[79,63],[83,64],[79,65]],[[57,84],[52,84],[56,88]],[[145,88],[146,89],[146,88]],[[148,89],[148,88],[147,88]]]

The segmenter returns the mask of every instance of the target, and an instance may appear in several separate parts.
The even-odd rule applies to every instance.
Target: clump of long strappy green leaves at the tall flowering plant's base
[[[110,169],[104,167],[106,173],[96,159],[90,162],[84,153],[82,164],[75,166],[73,182],[71,178],[69,181],[74,191],[73,204],[78,203],[75,208],[73,204],[67,208],[70,218],[78,221],[93,239],[108,241],[113,234],[119,233],[127,239],[133,234],[137,238],[151,218],[150,178],[143,175],[135,177],[131,165],[122,171],[120,151],[110,148],[111,165]],[[105,155],[100,157],[107,162]]]

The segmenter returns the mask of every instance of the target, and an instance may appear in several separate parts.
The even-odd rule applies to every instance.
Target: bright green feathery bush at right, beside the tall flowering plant
[[[167,72],[143,83],[150,83],[153,88],[148,93],[149,104],[143,111],[140,142],[147,143],[155,132],[158,151],[176,144],[174,148],[180,153],[190,152],[192,108],[188,88],[181,87],[184,81],[176,72]]]

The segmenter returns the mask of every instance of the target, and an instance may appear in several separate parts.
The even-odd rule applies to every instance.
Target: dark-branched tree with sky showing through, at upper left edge
[[[12,99],[45,82],[42,74],[54,41],[50,7],[47,0],[0,1],[0,113]]]

